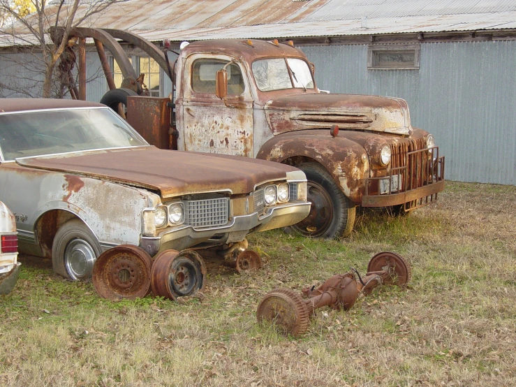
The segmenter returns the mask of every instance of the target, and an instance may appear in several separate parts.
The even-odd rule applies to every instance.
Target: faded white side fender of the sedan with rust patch
[[[19,238],[21,252],[29,248],[27,242],[36,242],[35,225],[51,210],[75,214],[101,243],[138,245],[142,210],[159,201],[159,196],[143,189],[70,173],[15,163],[4,164],[0,172],[1,181],[10,185],[0,187],[0,195],[15,212],[19,235],[25,237]]]

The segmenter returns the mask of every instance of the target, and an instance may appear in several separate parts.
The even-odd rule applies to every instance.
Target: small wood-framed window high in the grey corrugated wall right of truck
[[[369,45],[369,70],[418,70],[419,45]]]

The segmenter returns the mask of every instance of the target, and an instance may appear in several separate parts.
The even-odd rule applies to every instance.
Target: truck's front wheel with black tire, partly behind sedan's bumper
[[[311,202],[308,217],[292,226],[300,235],[313,238],[347,237],[355,224],[355,207],[330,173],[316,163],[297,166],[307,175],[308,201]]]

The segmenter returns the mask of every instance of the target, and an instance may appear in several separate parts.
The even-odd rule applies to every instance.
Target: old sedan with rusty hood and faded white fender
[[[296,168],[157,149],[105,105],[45,99],[0,100],[0,198],[20,252],[72,280],[119,244],[226,246],[310,210]]]

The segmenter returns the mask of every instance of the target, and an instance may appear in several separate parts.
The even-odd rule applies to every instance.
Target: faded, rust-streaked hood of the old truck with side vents
[[[363,129],[400,135],[412,133],[408,105],[401,98],[353,94],[295,94],[265,103],[274,133],[302,129]]]

